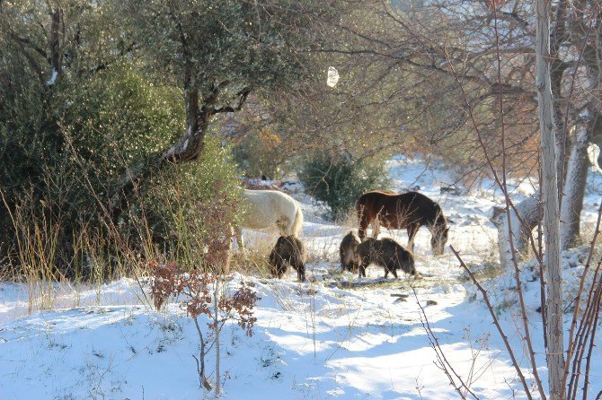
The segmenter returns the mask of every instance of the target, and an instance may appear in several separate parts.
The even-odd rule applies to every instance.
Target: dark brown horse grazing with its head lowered
[[[414,237],[426,226],[432,235],[430,246],[433,254],[443,254],[447,242],[447,218],[439,204],[418,192],[406,192],[401,195],[387,191],[372,191],[359,196],[356,203],[359,219],[359,238],[366,237],[370,222],[375,225],[374,237],[382,224],[387,229],[408,230],[408,248],[414,249]]]

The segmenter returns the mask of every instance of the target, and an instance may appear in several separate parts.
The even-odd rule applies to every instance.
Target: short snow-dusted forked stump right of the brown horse
[[[528,197],[516,205],[518,213],[525,222],[520,223],[517,213],[510,210],[510,221],[512,223],[512,232],[508,229],[508,218],[505,209],[494,207],[491,222],[498,228],[498,246],[500,247],[500,265],[505,271],[514,270],[512,255],[516,254],[520,260],[524,259],[528,253],[529,235],[539,222],[539,202],[537,194]],[[510,248],[510,234],[514,243],[515,252]]]

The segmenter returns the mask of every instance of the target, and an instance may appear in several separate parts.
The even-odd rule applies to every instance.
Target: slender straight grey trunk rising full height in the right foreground
[[[544,266],[547,275],[548,382],[552,400],[562,400],[564,349],[562,342],[562,275],[560,268],[560,210],[556,127],[553,117],[550,81],[550,11],[551,0],[536,0],[536,87],[541,130],[542,193],[544,200]],[[542,305],[543,306],[543,305]]]

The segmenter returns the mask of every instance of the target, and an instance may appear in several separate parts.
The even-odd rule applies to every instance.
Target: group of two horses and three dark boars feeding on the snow
[[[280,237],[270,252],[273,276],[281,278],[288,265],[297,270],[297,278],[305,282],[305,245],[299,239],[303,213],[297,200],[277,190],[244,189],[244,228],[263,229],[278,226]],[[434,255],[443,254],[447,242],[449,222],[439,204],[419,192],[396,194],[389,191],[370,191],[359,196],[356,203],[359,231],[351,230],[341,241],[342,271],[366,276],[368,265],[385,268],[385,278],[397,270],[420,277],[414,266],[413,241],[418,230],[425,226],[431,234],[430,245]],[[367,228],[373,225],[373,237],[367,238]],[[377,239],[380,226],[387,229],[406,229],[408,248],[394,239]],[[236,229],[236,239],[243,248],[242,227]]]

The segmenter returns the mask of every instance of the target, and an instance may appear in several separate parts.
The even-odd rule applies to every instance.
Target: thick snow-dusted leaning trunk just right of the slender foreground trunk
[[[580,236],[580,215],[588,177],[588,143],[588,126],[580,126],[567,165],[562,193],[560,230],[563,250],[575,246]]]

